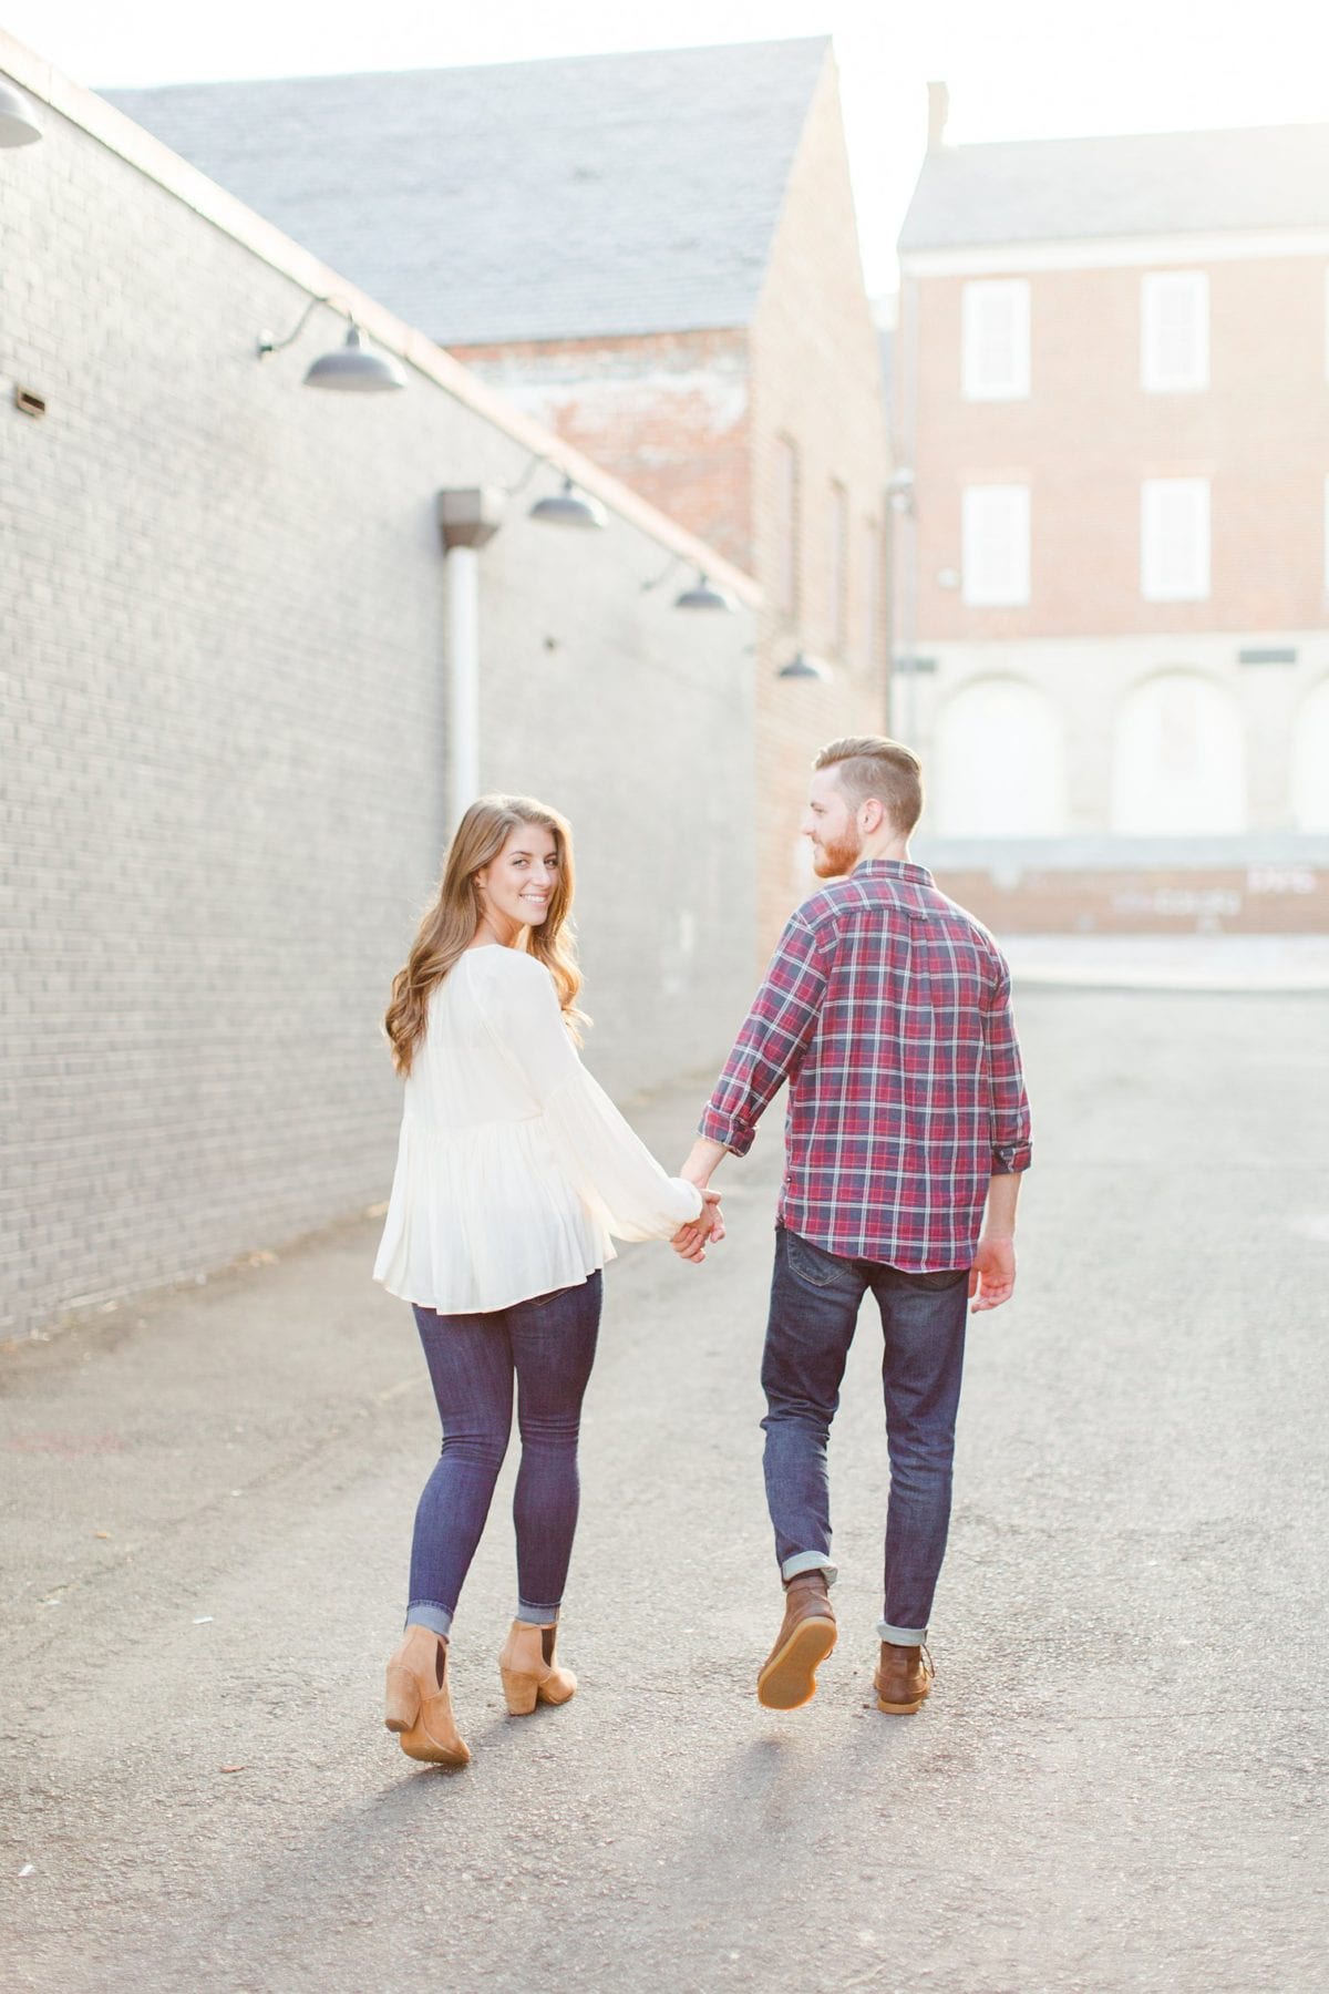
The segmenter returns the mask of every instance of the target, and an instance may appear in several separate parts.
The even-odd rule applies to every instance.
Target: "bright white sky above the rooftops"
[[[950,86],[956,144],[1329,120],[1317,0],[0,0],[0,26],[92,88],[831,34],[873,295],[895,285],[930,78]]]

